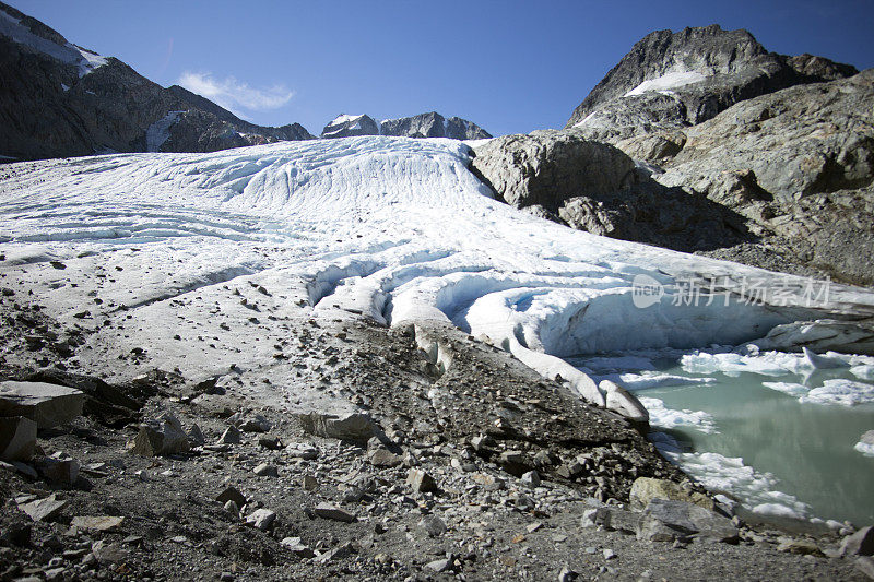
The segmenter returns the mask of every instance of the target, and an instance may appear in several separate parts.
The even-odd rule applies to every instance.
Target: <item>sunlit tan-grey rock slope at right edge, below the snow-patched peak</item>
[[[657,179],[742,214],[782,252],[874,284],[874,70],[739,103],[686,130]]]

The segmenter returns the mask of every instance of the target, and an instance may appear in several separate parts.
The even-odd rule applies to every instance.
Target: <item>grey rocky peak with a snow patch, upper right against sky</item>
[[[822,57],[768,52],[746,31],[718,25],[657,31],[638,41],[574,110],[568,128],[658,159],[682,146],[676,130],[735,103],[789,86],[855,74]],[[635,138],[663,134],[639,143]],[[631,143],[621,142],[631,140]],[[633,150],[629,151],[629,150]]]

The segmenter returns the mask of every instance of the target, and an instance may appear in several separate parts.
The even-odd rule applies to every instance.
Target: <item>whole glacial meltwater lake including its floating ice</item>
[[[669,349],[570,361],[634,391],[650,439],[742,513],[874,524],[874,456],[855,449],[874,430],[874,358]]]

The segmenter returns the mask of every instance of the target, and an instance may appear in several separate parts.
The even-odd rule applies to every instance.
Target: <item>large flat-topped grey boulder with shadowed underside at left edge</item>
[[[80,390],[45,382],[0,382],[0,416],[23,416],[37,428],[50,428],[82,415]]]

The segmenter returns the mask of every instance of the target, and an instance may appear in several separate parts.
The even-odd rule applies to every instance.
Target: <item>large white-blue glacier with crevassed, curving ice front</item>
[[[874,312],[864,289],[832,284],[814,308],[802,277],[519,212],[469,171],[471,156],[453,140],[361,136],[12,164],[0,181],[0,273],[68,323],[126,311],[167,335],[153,348],[160,364],[192,376],[269,359],[265,346],[240,354],[233,334],[216,340],[210,357],[169,341],[166,320],[203,322],[209,294],[245,281],[280,289],[271,296],[277,313],[454,325],[599,405],[597,382],[562,358],[736,345],[787,322]],[[641,275],[664,288],[646,308],[634,301]],[[675,300],[690,277],[719,278],[727,300]],[[779,281],[783,302],[745,297],[753,277]],[[253,314],[244,306],[235,317]]]

